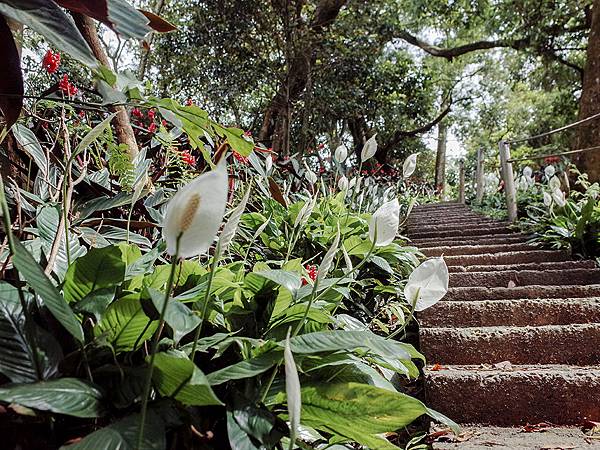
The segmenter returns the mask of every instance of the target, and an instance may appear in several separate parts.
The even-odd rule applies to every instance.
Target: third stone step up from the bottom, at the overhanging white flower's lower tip
[[[439,302],[418,318],[423,328],[600,323],[600,297]]]

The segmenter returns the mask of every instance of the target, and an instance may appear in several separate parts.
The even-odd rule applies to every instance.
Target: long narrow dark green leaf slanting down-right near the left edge
[[[79,342],[83,342],[83,329],[77,316],[69,307],[65,299],[60,295],[58,289],[52,284],[52,281],[46,276],[42,268],[36,262],[27,249],[14,239],[14,258],[13,264],[19,271],[23,279],[31,286],[44,302],[50,313],[71,333]]]

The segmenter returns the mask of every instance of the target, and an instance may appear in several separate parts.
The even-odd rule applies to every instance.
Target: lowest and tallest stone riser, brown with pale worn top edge
[[[439,371],[427,368],[425,377],[427,406],[459,423],[600,421],[598,366],[447,366]]]

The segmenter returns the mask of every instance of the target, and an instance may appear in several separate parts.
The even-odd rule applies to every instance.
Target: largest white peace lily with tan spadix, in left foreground
[[[222,159],[216,169],[193,179],[169,200],[163,221],[167,253],[177,252],[182,258],[205,253],[215,240],[226,204],[227,167]]]

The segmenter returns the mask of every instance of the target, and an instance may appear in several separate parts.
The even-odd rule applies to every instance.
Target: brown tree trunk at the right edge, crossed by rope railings
[[[583,90],[579,101],[579,119],[600,113],[600,0],[594,0],[592,26],[588,39],[587,62],[583,74]],[[600,118],[577,128],[576,148],[600,145]],[[589,175],[590,181],[600,181],[600,149],[576,154],[577,166]]]

